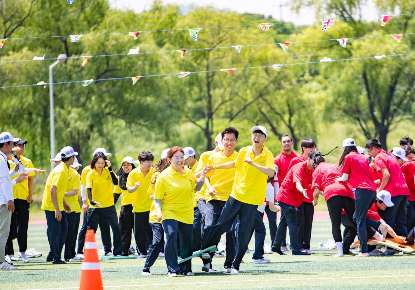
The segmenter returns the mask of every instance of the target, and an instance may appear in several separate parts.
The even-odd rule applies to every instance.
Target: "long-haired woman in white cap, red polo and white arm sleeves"
[[[343,140],[343,154],[339,160],[343,176],[336,181],[349,180],[350,186],[355,188],[356,197],[353,220],[357,224],[361,253],[369,256],[367,247],[366,216],[367,211],[376,200],[376,185],[372,180],[371,169],[367,158],[357,152],[356,142],[352,138]]]

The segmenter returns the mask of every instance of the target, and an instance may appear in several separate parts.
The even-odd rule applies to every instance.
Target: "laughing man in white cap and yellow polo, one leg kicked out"
[[[251,133],[252,145],[241,148],[235,161],[221,165],[213,164],[211,167],[212,170],[236,167],[231,195],[223,207],[217,224],[212,227],[207,242],[201,247],[204,249],[215,245],[220,236],[230,229],[239,214],[237,250],[231,275],[239,274],[239,264],[251,239],[256,210],[265,200],[267,178],[274,176],[275,173],[274,157],[264,146],[268,137],[266,128],[255,126],[252,127]],[[210,258],[210,256],[204,253],[202,258]]]

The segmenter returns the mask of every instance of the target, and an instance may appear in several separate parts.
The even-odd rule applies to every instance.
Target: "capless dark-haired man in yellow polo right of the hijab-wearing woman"
[[[129,173],[126,187],[128,192],[132,193],[134,238],[139,251],[137,258],[141,259],[147,257],[147,248],[153,241],[153,231],[149,222],[150,207],[153,201],[147,192],[154,173],[154,156],[151,152],[144,151],[139,154],[138,161],[140,166]]]

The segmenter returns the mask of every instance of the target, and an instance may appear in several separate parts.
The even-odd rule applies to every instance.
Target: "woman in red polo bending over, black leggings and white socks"
[[[352,188],[346,181],[336,182],[336,179],[342,175],[342,169],[337,165],[326,163],[320,152],[313,150],[308,154],[308,157],[312,158],[312,164],[315,168],[312,174],[311,185],[311,188],[314,190],[313,205],[317,205],[320,194],[324,195],[332,221],[333,238],[337,246],[337,254],[334,257],[342,257],[343,244],[340,224],[343,209],[347,219],[355,225],[353,222],[354,195]]]

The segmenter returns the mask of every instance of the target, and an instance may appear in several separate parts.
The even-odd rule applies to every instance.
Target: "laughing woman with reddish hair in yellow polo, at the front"
[[[180,270],[177,263],[177,235],[180,236],[180,251],[182,258],[193,254],[193,201],[195,191],[200,190],[205,183],[207,166],[203,169],[200,180],[184,165],[184,151],[174,146],[167,153],[170,166],[166,168],[156,180],[154,190],[154,206],[157,212],[157,221],[161,222],[166,243],[164,256],[168,268],[168,276],[177,274],[194,275],[191,260],[181,263]]]

